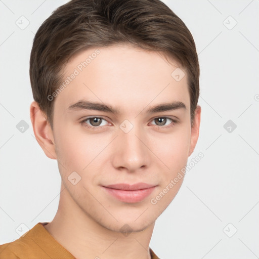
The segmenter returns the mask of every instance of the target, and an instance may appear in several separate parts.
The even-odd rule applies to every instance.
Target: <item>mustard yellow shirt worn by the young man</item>
[[[76,259],[47,231],[37,223],[17,240],[0,245],[0,259]],[[149,248],[152,259],[159,259]]]

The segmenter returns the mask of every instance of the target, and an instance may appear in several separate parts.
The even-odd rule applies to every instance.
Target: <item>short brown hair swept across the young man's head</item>
[[[72,0],[41,24],[33,40],[30,81],[34,100],[53,129],[62,69],[82,50],[130,44],[161,52],[187,71],[191,122],[199,98],[199,62],[185,23],[160,0]]]

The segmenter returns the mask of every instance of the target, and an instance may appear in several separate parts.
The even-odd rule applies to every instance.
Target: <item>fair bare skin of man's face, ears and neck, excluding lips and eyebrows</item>
[[[54,128],[36,102],[30,106],[35,138],[45,154],[57,159],[61,175],[60,203],[55,218],[45,226],[77,259],[150,258],[149,243],[156,219],[174,199],[184,177],[156,204],[150,202],[187,164],[199,136],[201,107],[190,121],[190,96],[185,76],[176,81],[168,63],[157,52],[127,45],[98,48],[100,54],[54,99]],[[96,48],[76,54],[65,66],[65,77]],[[67,108],[79,100],[103,102],[120,110],[112,114]],[[146,113],[164,102],[181,101],[186,109]],[[101,130],[92,130],[89,116],[102,116]],[[169,117],[164,128],[155,118]],[[178,122],[173,124],[172,119]],[[120,129],[127,119],[130,132]],[[92,123],[92,124],[91,124]],[[100,123],[99,123],[100,124]],[[100,126],[97,126],[100,127]],[[69,175],[81,180],[73,185]],[[101,185],[117,183],[156,185],[141,202],[122,202]],[[132,232],[123,235],[128,224]]]

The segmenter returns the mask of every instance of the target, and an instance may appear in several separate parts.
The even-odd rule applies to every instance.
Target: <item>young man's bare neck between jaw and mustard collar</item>
[[[136,232],[113,231],[112,226],[107,228],[85,213],[61,183],[58,211],[45,228],[77,259],[150,259],[149,243],[154,225]]]

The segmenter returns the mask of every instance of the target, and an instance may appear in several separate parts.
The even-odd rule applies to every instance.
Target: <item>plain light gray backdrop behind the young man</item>
[[[66,2],[0,1],[0,244],[19,238],[17,228],[26,232],[38,222],[52,221],[57,211],[57,161],[44,154],[31,127],[29,56],[40,24]],[[164,259],[256,258],[259,1],[164,3],[196,42],[202,116],[189,161],[199,152],[204,157],[187,172],[176,198],[156,221],[150,247]],[[16,25],[21,16],[29,21],[23,30]],[[16,127],[21,120],[29,125],[24,133]],[[231,132],[224,128],[228,120],[237,125]]]

